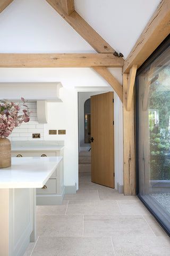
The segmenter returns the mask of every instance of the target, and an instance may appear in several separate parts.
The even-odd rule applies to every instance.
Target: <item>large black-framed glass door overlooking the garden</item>
[[[138,70],[137,194],[170,234],[170,40]]]

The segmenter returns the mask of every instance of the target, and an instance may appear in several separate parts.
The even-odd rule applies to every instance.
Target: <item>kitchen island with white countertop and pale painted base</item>
[[[36,237],[36,188],[43,188],[63,157],[12,157],[0,169],[0,256],[22,256]]]

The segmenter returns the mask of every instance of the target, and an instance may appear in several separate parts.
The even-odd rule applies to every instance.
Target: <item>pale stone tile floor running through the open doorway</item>
[[[37,206],[37,240],[24,256],[169,256],[170,239],[139,199],[90,181],[63,205]]]

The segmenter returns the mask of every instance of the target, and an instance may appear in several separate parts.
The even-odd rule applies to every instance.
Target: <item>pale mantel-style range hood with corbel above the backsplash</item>
[[[40,124],[47,123],[47,103],[63,102],[61,99],[62,84],[52,83],[0,83],[0,100],[29,102],[37,101],[37,117]]]

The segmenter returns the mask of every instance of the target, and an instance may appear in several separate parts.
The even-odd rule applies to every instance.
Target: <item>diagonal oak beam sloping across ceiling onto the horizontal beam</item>
[[[62,0],[61,0],[62,1]],[[115,50],[109,45],[77,12],[68,15],[57,0],[46,0],[53,9],[61,15],[72,28],[79,33],[97,52],[114,53]],[[64,0],[63,0],[64,1]]]

